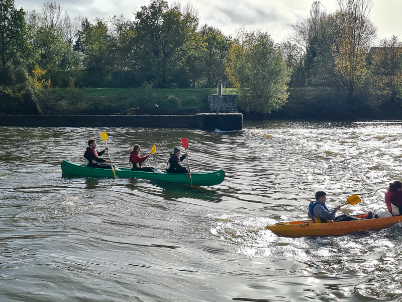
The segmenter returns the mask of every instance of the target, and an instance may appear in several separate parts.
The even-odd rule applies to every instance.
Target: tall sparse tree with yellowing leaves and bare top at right
[[[369,19],[371,0],[337,0],[337,28],[335,40],[336,72],[341,75],[352,107],[356,83],[366,71],[366,54],[376,35],[376,28]]]

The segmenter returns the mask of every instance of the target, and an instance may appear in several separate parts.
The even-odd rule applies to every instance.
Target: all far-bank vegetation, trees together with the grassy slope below
[[[371,0],[314,2],[280,43],[239,29],[200,25],[190,5],[152,0],[135,19],[71,18],[0,3],[2,113],[209,112],[219,80],[237,89],[241,112],[271,117],[397,116],[402,43],[374,44]]]

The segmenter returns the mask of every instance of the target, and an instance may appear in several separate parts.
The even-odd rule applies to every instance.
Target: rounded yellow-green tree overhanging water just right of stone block
[[[260,31],[239,31],[230,49],[229,75],[239,85],[239,107],[270,113],[286,102],[288,69],[278,45]]]

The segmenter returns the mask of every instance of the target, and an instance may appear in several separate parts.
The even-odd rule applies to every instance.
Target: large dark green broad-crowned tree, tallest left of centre
[[[180,70],[196,40],[198,17],[190,6],[181,12],[179,4],[168,6],[153,0],[136,14],[136,44],[140,72],[147,82],[166,88],[174,84],[172,74]]]

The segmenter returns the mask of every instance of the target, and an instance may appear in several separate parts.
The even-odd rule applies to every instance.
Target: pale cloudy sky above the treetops
[[[114,15],[124,15],[134,20],[134,13],[141,6],[148,6],[151,0],[15,0],[17,8],[40,11],[45,2],[56,2],[74,18],[83,16],[89,20]],[[171,4],[173,1],[168,0]],[[177,1],[176,1],[177,2]],[[271,35],[275,42],[281,42],[291,32],[292,24],[309,16],[314,0],[182,0],[198,12],[199,24],[213,26],[225,35],[236,35],[243,25],[246,31],[261,30]],[[337,0],[321,0],[327,13],[337,9]],[[377,41],[402,34],[402,0],[372,0],[370,18],[377,27]]]

